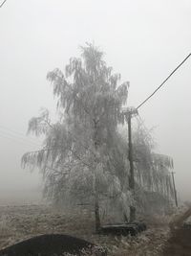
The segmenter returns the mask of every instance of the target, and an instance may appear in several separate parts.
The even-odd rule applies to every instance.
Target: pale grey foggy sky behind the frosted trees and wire
[[[2,2],[2,1],[1,1]],[[20,168],[38,140],[24,138],[41,106],[54,109],[48,71],[64,68],[79,45],[95,41],[137,106],[191,52],[189,0],[7,0],[0,9],[0,191],[41,183]],[[191,58],[139,109],[156,127],[158,151],[175,162],[181,198],[191,195]],[[35,145],[34,145],[35,143]]]

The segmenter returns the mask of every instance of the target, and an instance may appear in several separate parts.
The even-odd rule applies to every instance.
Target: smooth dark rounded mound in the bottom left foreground
[[[95,244],[68,235],[50,234],[33,237],[0,250],[0,256],[61,256],[64,253],[106,256],[106,251]],[[89,254],[88,254],[89,253]]]

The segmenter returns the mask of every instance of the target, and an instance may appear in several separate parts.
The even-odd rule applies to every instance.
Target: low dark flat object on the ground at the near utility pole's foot
[[[99,233],[104,235],[113,234],[116,236],[136,236],[138,232],[144,231],[146,225],[143,222],[133,222],[133,223],[116,223],[103,225],[100,228]]]

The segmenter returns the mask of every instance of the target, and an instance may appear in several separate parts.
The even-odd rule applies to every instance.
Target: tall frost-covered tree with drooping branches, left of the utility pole
[[[92,44],[81,47],[81,58],[71,58],[64,72],[56,68],[47,79],[60,119],[52,123],[48,110],[31,119],[29,132],[45,139],[41,150],[23,155],[22,163],[42,171],[45,192],[54,200],[67,194],[93,198],[97,230],[100,195],[114,194],[124,175],[124,166],[112,155],[118,154],[117,124],[129,84],[118,85],[120,75]]]

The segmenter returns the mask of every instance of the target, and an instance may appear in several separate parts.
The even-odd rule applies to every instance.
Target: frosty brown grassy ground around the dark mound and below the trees
[[[95,233],[94,213],[68,212],[48,205],[0,206],[0,248],[36,235],[59,233],[83,238],[108,249],[108,255],[159,256],[169,237],[166,221],[150,221],[137,237],[102,236]]]

